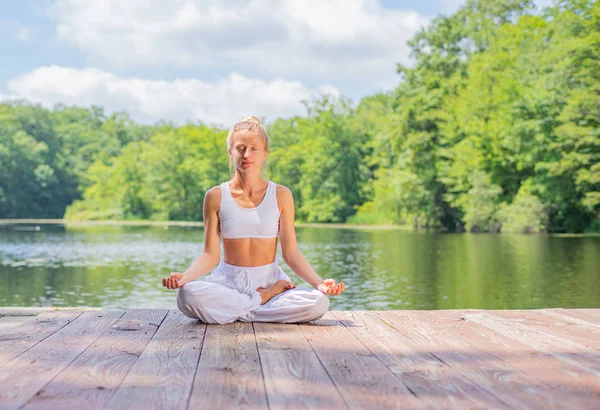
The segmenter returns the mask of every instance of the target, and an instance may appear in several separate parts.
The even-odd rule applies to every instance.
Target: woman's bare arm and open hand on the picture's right
[[[335,281],[328,280],[331,285],[323,285],[323,279],[315,272],[306,260],[296,241],[296,229],[294,228],[294,197],[292,191],[283,185],[277,185],[277,202],[281,206],[279,216],[279,240],[281,242],[281,253],[283,260],[302,279],[313,287],[324,290],[328,294],[340,294],[341,286],[335,285]],[[319,286],[321,285],[321,286]],[[341,288],[341,289],[340,289]]]

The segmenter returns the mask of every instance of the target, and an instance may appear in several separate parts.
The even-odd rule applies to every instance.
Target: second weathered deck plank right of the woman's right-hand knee
[[[433,323],[427,311],[377,312],[394,328],[406,334],[444,363],[462,371],[483,388],[494,391],[512,408],[548,408],[553,401],[540,394],[544,386],[523,371],[493,354],[468,344],[467,338],[453,335]]]

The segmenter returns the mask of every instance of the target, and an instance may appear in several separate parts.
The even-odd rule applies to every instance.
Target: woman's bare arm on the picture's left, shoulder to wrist
[[[179,279],[181,286],[210,272],[221,259],[221,238],[219,237],[219,206],[221,187],[213,187],[204,195],[204,252],[183,272]]]

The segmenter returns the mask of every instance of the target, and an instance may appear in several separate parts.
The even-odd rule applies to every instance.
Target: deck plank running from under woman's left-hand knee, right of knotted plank
[[[106,408],[185,409],[205,330],[197,319],[169,311]]]

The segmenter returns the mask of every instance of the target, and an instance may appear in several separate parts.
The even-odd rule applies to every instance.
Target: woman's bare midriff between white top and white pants
[[[223,261],[235,266],[262,266],[275,261],[277,238],[223,238]]]

